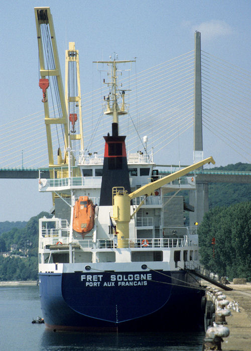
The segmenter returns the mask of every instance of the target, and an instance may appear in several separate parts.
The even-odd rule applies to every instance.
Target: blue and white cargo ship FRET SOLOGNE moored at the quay
[[[49,152],[50,177],[42,172],[39,177],[39,191],[51,192],[54,203],[53,216],[39,220],[39,287],[46,326],[89,331],[196,328],[205,292],[188,268],[199,267],[198,238],[184,226],[183,197],[168,194],[178,179],[214,163],[213,158],[163,177],[146,148],[127,154],[126,136],[119,134],[119,116],[127,114],[126,92],[118,88],[116,72],[129,61],[110,59],[99,62],[111,72],[104,154],[85,155],[82,150],[77,160],[71,139],[78,119],[73,113],[66,118],[48,115],[49,79],[60,71],[56,51],[53,67],[45,68],[43,57],[41,27],[49,27],[55,40],[50,8],[35,8],[35,18],[46,125],[61,123],[68,142],[64,158],[58,150],[58,164]],[[69,57],[77,57],[73,45]],[[68,94],[69,103],[78,99]]]

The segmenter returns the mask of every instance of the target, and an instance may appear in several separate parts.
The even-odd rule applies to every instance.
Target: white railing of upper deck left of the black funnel
[[[54,178],[54,179],[40,179],[39,190],[43,188],[59,188],[59,187],[88,187],[100,188],[102,177],[70,177],[70,178]]]

